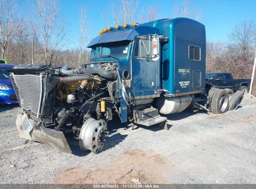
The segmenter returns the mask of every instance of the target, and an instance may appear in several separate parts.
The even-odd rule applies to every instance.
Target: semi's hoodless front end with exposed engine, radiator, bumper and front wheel
[[[120,106],[117,78],[111,61],[65,71],[48,65],[14,67],[11,80],[23,110],[16,121],[20,137],[70,152],[65,133],[79,139],[81,149],[97,153],[106,141],[106,121]]]

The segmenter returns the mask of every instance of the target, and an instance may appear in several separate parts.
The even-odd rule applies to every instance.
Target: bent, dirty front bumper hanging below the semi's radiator
[[[33,127],[35,124],[36,122],[27,118],[25,113],[18,114],[16,126],[19,131],[19,137],[29,141],[36,141],[50,145],[66,153],[72,153],[72,150],[70,149],[67,139],[62,131],[48,129],[44,126],[40,126],[39,129],[36,129]]]

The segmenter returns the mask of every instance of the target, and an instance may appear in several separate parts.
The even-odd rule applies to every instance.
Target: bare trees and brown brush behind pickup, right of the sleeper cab
[[[226,44],[207,43],[207,71],[227,71],[235,78],[250,78],[254,65],[255,24],[235,25]]]

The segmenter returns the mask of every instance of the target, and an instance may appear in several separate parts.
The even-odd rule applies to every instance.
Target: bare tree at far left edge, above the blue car
[[[1,58],[6,57],[6,50],[9,42],[14,38],[16,33],[16,1],[0,1],[0,45]]]

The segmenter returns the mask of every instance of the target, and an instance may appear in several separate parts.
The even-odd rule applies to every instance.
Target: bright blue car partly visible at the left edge
[[[18,103],[12,81],[9,77],[12,67],[14,65],[0,64],[0,104]]]

